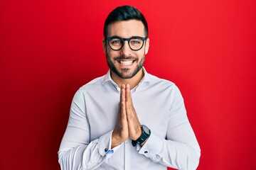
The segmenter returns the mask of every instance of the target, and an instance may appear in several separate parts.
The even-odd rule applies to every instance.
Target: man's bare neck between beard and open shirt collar
[[[121,88],[122,84],[129,84],[131,86],[131,89],[133,89],[135,86],[139,84],[139,82],[144,77],[143,69],[139,70],[137,74],[134,75],[134,77],[130,79],[122,79],[121,77],[117,76],[114,72],[111,71],[111,78],[112,80]]]

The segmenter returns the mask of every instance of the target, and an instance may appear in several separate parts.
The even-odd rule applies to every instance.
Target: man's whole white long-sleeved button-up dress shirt
[[[73,98],[68,127],[58,152],[62,170],[196,169],[201,150],[174,83],[148,74],[132,89],[142,125],[151,130],[143,147],[128,139],[111,149],[120,89],[110,71],[82,86]]]

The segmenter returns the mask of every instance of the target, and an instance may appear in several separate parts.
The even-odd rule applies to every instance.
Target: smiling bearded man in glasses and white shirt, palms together
[[[61,169],[196,169],[201,151],[180,91],[143,67],[149,38],[142,13],[115,8],[104,35],[110,71],[75,94]]]

